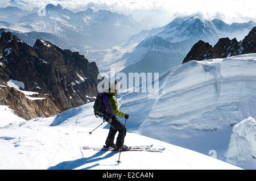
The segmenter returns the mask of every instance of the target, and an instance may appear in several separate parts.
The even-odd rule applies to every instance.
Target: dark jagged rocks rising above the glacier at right
[[[218,40],[217,44],[212,47],[204,41],[198,41],[184,58],[183,64],[189,60],[226,58],[247,53],[256,53],[256,27],[240,42],[226,37]]]

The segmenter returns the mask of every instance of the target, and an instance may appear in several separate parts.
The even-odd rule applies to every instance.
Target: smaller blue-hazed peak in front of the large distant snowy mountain
[[[122,57],[125,68],[121,72],[127,75],[129,72],[161,74],[172,66],[180,65],[182,57],[184,52],[177,49],[175,43],[154,35],[144,39],[133,52]]]

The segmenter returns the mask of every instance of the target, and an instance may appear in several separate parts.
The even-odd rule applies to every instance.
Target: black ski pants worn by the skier
[[[108,119],[107,119],[108,121]],[[125,140],[126,136],[126,128],[125,126],[117,119],[117,117],[112,117],[112,121],[110,123],[110,128],[109,128],[109,134],[108,137],[106,138],[106,145],[113,145],[114,144],[114,138],[115,134],[118,131],[118,136],[117,136],[117,142],[115,145],[118,148],[121,148],[123,146],[123,141]]]

